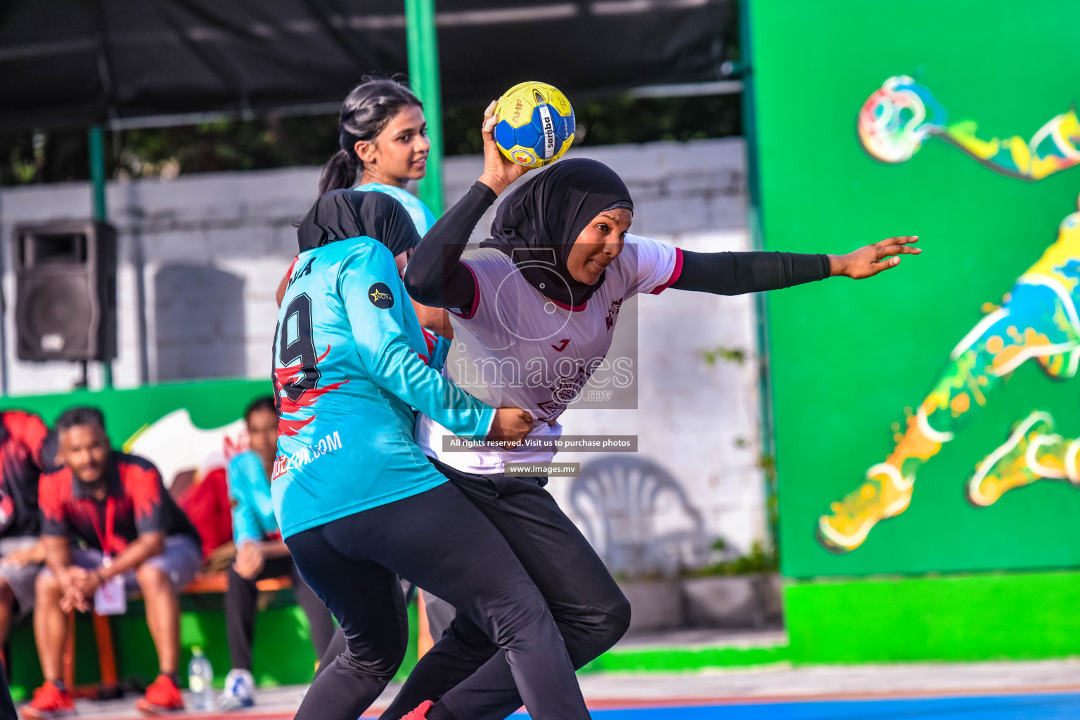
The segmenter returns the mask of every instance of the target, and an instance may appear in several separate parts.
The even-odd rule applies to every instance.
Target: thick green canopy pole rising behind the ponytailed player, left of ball
[[[420,200],[438,217],[443,214],[443,100],[438,81],[438,38],[435,0],[405,0],[405,37],[413,92],[423,103],[428,119],[428,175],[420,180]]]

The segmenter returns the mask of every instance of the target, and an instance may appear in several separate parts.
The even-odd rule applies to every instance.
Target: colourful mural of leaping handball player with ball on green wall
[[[906,76],[889,78],[869,96],[858,128],[866,152],[886,163],[910,160],[922,142],[936,137],[997,173],[1029,181],[1080,164],[1075,109],[1052,118],[1027,141],[1018,136],[981,139],[974,121],[949,124],[942,104]],[[1077,202],[1080,210],[1080,198]],[[906,427],[895,433],[886,461],[867,470],[864,481],[819,518],[820,542],[836,552],[853,551],[878,522],[907,510],[919,468],[962,432],[1021,364],[1034,361],[1055,380],[1076,377],[1078,304],[1080,212],[1062,220],[1056,242],[1016,280],[1001,304],[987,305],[986,316],[960,339]],[[1053,434],[1048,413],[1032,412],[978,464],[967,485],[968,500],[985,507],[1008,490],[1043,478],[1080,485],[1078,448],[1080,443]]]

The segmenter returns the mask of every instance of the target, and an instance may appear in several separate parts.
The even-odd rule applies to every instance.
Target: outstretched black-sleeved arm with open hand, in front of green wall
[[[916,236],[889,237],[847,255],[799,253],[691,253],[683,250],[683,270],[672,287],[715,295],[779,290],[843,275],[873,277],[900,264],[897,255],[918,255]]]

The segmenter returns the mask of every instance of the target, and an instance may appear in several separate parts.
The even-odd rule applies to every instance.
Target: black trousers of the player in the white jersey
[[[543,479],[470,475],[432,463],[510,544],[548,601],[576,668],[623,636],[630,602],[589,541],[541,487]],[[459,720],[502,720],[522,705],[503,651],[461,612],[420,658],[380,720],[400,720],[421,702],[450,692],[446,707]]]

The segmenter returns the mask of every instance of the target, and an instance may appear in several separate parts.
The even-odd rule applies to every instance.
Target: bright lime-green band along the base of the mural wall
[[[794,663],[1039,660],[1080,655],[1080,573],[793,583]]]

